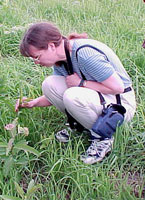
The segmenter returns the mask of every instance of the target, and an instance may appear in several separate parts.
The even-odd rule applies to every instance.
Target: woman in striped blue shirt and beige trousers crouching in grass
[[[98,50],[90,46],[81,48],[84,45]],[[66,70],[66,50],[69,51],[73,68],[70,75]],[[18,100],[16,111],[21,107],[54,105],[91,130],[103,109],[98,95],[100,92],[106,105],[116,103],[116,94],[120,94],[121,103],[126,109],[125,121],[133,118],[136,103],[131,80],[117,55],[105,44],[87,39],[86,34],[70,34],[66,38],[53,24],[41,22],[32,25],[25,33],[20,52],[32,58],[35,64],[53,66],[54,73],[42,83],[43,96],[27,103],[23,99],[22,104]],[[85,81],[82,81],[82,76]],[[131,89],[124,92],[128,87]],[[91,131],[91,135],[91,145],[81,156],[81,160],[87,164],[102,160],[113,145],[113,137],[98,140],[96,133]],[[67,142],[69,134],[62,130],[56,134],[56,138]]]

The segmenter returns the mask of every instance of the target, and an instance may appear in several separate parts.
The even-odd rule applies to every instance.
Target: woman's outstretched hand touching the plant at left
[[[27,97],[23,97],[22,100],[17,99],[15,104],[15,112],[18,112],[20,108],[33,108],[34,101],[35,100],[29,99]]]

